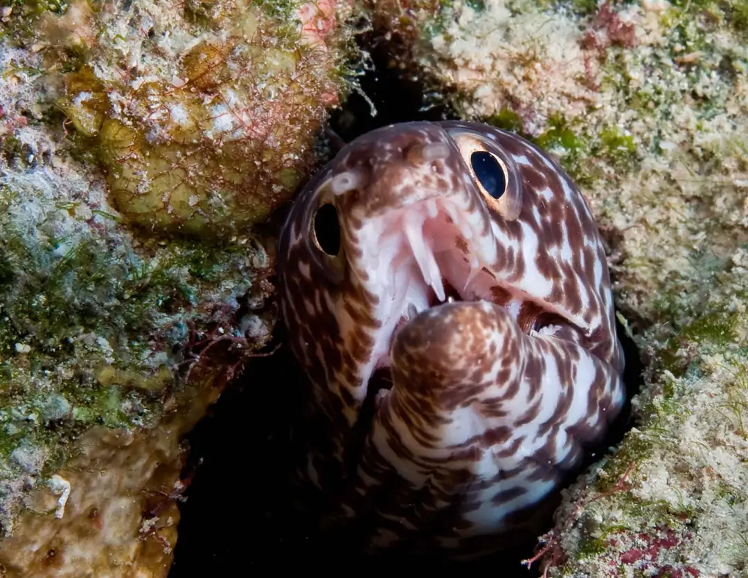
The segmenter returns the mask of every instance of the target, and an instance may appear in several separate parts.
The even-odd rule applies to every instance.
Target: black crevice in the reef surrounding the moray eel
[[[386,68],[386,46],[375,49],[373,57],[376,68],[364,76],[362,85],[379,114],[370,117],[367,102],[353,95],[332,120],[333,129],[345,141],[389,123],[455,117],[444,108],[420,110],[423,88],[403,79],[397,70]],[[620,325],[618,332],[627,363],[624,381],[631,399],[640,387],[643,366],[637,346]],[[285,338],[279,327],[275,342]],[[298,411],[300,396],[295,394],[303,387],[298,366],[286,348],[281,348],[271,357],[252,360],[242,377],[224,391],[206,419],[189,434],[191,452],[183,476],[194,470],[200,458],[204,461],[186,491],[187,501],[180,503],[182,519],[170,578],[199,577],[206,572],[233,577],[266,568],[275,573],[319,568],[333,575],[353,571],[364,576],[392,568],[485,572],[503,578],[539,576],[538,563],[529,571],[520,565],[521,559],[533,556],[535,540],[513,550],[510,556],[505,553],[474,562],[445,563],[438,553],[428,559],[404,554],[370,559],[350,551],[345,536],[322,535],[313,517],[295,508],[299,496],[290,485],[298,454],[290,442],[289,416]],[[622,440],[631,428],[630,415],[627,402],[604,443],[589,449],[583,467],[589,467],[607,447]],[[548,517],[548,529],[551,526]]]

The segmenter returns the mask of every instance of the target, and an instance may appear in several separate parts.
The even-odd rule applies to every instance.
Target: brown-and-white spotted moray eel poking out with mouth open
[[[482,124],[376,129],[301,191],[277,263],[331,516],[370,552],[538,532],[625,400],[604,248],[560,165]]]

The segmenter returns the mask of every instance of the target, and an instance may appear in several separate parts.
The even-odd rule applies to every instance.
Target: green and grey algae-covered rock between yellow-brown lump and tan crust
[[[54,473],[95,426],[156,427],[194,376],[215,381],[204,368],[191,372],[206,344],[233,344],[231,354],[212,348],[227,363],[212,369],[218,375],[272,326],[257,318],[262,335],[239,328],[239,300],[257,291],[267,259],[256,242],[135,242],[100,185],[71,168],[65,179],[49,167],[9,170],[0,188],[4,532],[22,509],[16,481]]]

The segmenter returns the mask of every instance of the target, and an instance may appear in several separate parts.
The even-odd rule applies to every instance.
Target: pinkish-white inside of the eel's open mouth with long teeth
[[[394,337],[423,311],[452,301],[487,300],[512,307],[509,292],[497,291],[497,280],[484,266],[495,240],[483,239],[481,226],[479,218],[471,222],[452,201],[427,199],[373,220],[362,231],[382,322],[367,397],[378,398],[391,389]]]

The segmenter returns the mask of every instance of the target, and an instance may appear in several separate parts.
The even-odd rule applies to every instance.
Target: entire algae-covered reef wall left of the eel
[[[345,17],[2,3],[0,575],[168,573],[183,436],[272,333],[247,225],[311,161]]]

